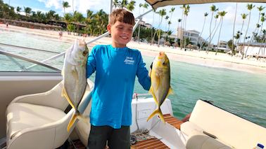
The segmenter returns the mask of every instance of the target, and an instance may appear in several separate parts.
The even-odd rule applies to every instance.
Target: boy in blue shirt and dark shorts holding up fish
[[[145,90],[151,78],[139,50],[127,48],[131,41],[134,15],[124,9],[110,14],[107,30],[111,45],[96,45],[88,57],[87,78],[96,71],[91,103],[91,132],[88,148],[130,148],[131,101],[137,76]]]

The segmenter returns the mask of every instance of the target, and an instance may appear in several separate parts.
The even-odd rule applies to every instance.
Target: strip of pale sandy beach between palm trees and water
[[[74,36],[73,34],[68,34],[66,31],[63,31],[63,36],[59,39],[59,31],[49,31],[42,29],[28,29],[25,27],[16,27],[13,25],[0,24],[0,34],[1,30],[5,31],[18,31],[25,34],[37,34],[39,36],[49,36],[51,38],[56,38],[61,41],[72,42],[75,38],[85,38],[85,41],[89,42],[95,36],[82,37]],[[96,44],[110,44],[110,37],[103,37],[94,43],[90,43],[89,46],[92,47]],[[150,43],[138,43],[131,41],[127,44],[129,48],[138,49],[141,51],[142,55],[155,57],[158,55],[158,52],[163,51],[167,56],[174,61],[186,62],[189,64],[197,64],[202,66],[211,66],[224,69],[232,69],[236,71],[245,71],[248,73],[260,73],[266,74],[266,59],[241,59],[241,57],[232,57],[225,53],[218,52],[215,55],[215,52],[198,51],[198,50],[180,50],[180,48],[172,47],[163,47],[160,45],[150,45]]]

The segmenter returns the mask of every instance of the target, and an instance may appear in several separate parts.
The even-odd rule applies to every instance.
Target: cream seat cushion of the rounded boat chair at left
[[[42,127],[65,116],[58,108],[27,103],[13,103],[6,109],[7,138],[12,139],[23,129]]]

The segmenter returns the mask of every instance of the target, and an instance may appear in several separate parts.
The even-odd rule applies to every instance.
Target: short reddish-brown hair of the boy
[[[134,15],[125,9],[115,9],[110,14],[109,24],[115,24],[117,21],[132,25],[135,24]]]

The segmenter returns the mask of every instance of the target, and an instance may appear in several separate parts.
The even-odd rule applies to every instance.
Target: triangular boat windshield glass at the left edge
[[[0,50],[0,72],[61,72],[42,62]]]

